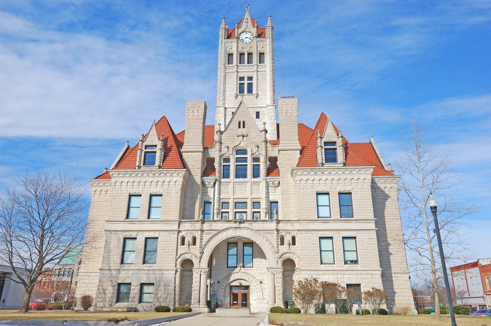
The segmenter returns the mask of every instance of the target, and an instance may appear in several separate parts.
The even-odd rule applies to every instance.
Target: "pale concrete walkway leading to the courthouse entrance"
[[[264,320],[265,313],[250,315],[201,314],[170,322],[169,326],[256,326]]]

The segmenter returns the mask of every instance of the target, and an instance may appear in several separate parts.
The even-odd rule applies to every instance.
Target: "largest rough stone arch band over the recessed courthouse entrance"
[[[256,242],[266,255],[268,267],[276,267],[276,250],[274,249],[273,244],[264,235],[260,234],[256,230],[244,227],[224,229],[209,238],[203,245],[203,249],[201,251],[201,260],[199,262],[200,267],[207,268],[208,261],[210,260],[211,254],[215,247],[222,241],[232,237],[245,237]]]

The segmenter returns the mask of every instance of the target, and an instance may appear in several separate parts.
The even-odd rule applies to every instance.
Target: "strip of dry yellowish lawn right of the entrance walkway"
[[[458,326],[491,326],[491,317],[456,315]],[[311,315],[311,314],[270,314],[270,322],[296,325],[304,321],[312,326],[450,326],[450,316],[442,315],[436,319],[434,315],[388,315],[388,316],[357,316],[357,315]]]

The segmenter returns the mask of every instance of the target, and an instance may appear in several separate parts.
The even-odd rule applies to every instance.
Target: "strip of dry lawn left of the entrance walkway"
[[[73,310],[43,310],[20,312],[15,310],[0,310],[0,320],[5,319],[28,319],[28,320],[77,320],[94,321],[108,320],[109,318],[123,318],[127,316],[130,321],[181,315],[182,312],[94,312]]]

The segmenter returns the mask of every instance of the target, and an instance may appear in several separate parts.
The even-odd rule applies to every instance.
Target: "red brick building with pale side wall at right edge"
[[[457,304],[484,309],[491,307],[491,258],[450,267]]]

